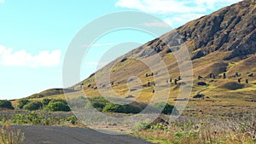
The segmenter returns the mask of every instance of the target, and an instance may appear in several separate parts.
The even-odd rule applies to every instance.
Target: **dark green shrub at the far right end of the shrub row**
[[[165,103],[165,102],[155,103],[154,107],[162,109],[163,114],[174,114],[174,115],[178,114],[177,109],[174,106],[172,106],[168,103]],[[172,111],[173,111],[173,113],[172,113]]]

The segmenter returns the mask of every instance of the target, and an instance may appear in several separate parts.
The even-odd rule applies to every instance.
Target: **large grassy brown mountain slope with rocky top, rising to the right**
[[[256,107],[255,27],[255,1],[245,0],[219,9],[113,60],[90,78],[69,88],[80,90],[69,95],[76,97],[85,93],[91,97],[102,95],[145,103],[155,96],[154,102],[168,96],[172,104],[189,100],[183,113],[189,115],[203,112],[223,117],[253,112]],[[183,56],[184,49],[193,64],[190,72],[193,85],[190,95],[178,97],[182,88],[192,82],[179,78],[183,63],[178,63],[177,58]],[[162,74],[160,60],[164,61],[168,77]],[[153,68],[143,61],[148,61]],[[166,95],[166,89],[170,94]],[[154,95],[155,90],[158,95]],[[61,94],[49,95],[49,98],[56,96],[64,97]]]

